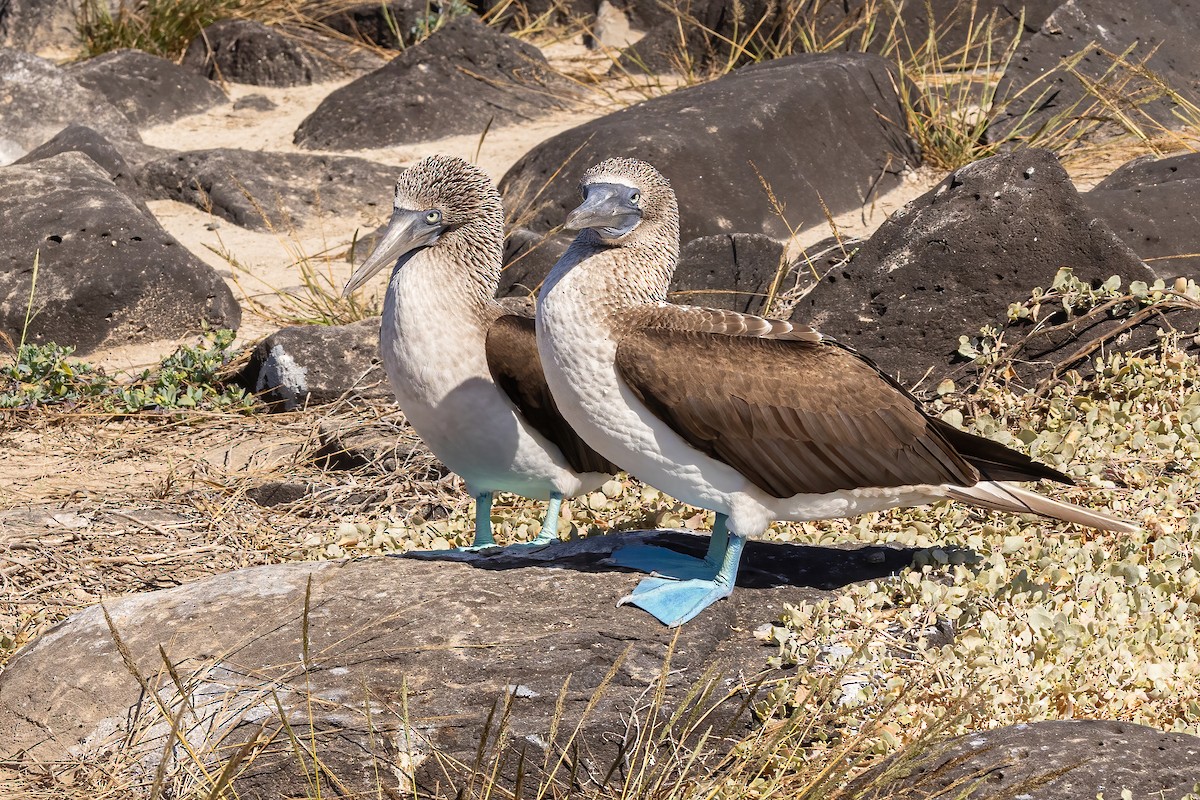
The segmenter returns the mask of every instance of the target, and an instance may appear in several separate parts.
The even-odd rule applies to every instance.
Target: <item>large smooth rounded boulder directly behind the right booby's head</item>
[[[919,163],[902,127],[890,65],[874,55],[798,55],[743,67],[691,89],[564,131],[526,154],[500,181],[526,242],[560,225],[578,180],[612,156],[652,163],[679,196],[680,237],[764,234],[788,227],[763,181],[803,227],[857,209]],[[551,240],[510,264],[509,285],[536,285],[570,242]],[[520,248],[509,248],[510,257]]]

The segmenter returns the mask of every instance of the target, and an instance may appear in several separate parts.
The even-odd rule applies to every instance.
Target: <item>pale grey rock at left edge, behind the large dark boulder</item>
[[[36,55],[0,48],[0,139],[28,152],[68,125],[86,125],[126,157],[138,132],[108,98]]]

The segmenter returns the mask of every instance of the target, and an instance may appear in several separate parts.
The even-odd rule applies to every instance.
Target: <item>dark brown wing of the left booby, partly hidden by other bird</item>
[[[617,473],[619,468],[588,446],[554,405],[538,356],[534,320],[504,314],[487,331],[487,368],[534,431],[553,443],[576,473]]]

